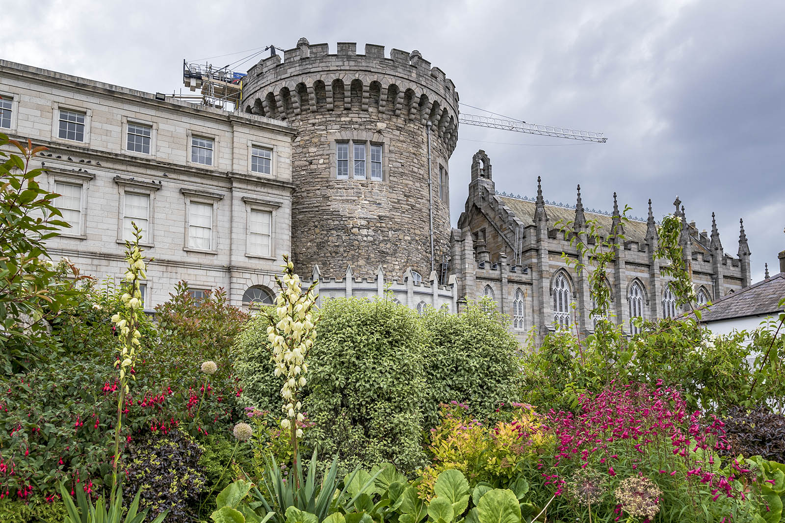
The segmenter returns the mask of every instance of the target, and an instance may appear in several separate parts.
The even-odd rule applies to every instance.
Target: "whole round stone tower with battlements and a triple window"
[[[418,51],[298,45],[248,71],[242,108],[286,120],[292,149],[292,254],[322,277],[438,271],[450,235],[447,160],[458,93]],[[430,141],[430,184],[429,184]],[[433,241],[433,260],[432,260]],[[415,276],[416,278],[416,276]]]

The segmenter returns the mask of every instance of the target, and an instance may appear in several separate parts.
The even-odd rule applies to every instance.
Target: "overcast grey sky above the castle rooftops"
[[[0,57],[148,92],[180,89],[182,60],[298,38],[418,49],[461,101],[529,123],[605,133],[606,144],[461,126],[450,162],[452,221],[471,157],[498,192],[659,219],[679,196],[689,221],[736,256],[739,218],[753,280],[785,249],[785,2],[17,2]],[[209,60],[225,65],[249,53]],[[266,55],[265,55],[266,56]],[[224,63],[225,62],[225,63]],[[250,63],[243,69],[250,67]],[[461,107],[462,112],[476,110]]]

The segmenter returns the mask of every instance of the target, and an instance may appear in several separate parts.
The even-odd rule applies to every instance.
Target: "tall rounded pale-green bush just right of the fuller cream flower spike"
[[[340,455],[349,468],[422,466],[425,337],[417,313],[394,302],[325,302],[310,356],[305,408],[316,426],[306,444]]]

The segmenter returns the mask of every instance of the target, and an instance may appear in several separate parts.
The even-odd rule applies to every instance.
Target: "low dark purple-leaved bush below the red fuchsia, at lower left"
[[[147,433],[126,447],[123,495],[130,503],[141,492],[139,506],[151,516],[169,510],[169,521],[189,521],[199,496],[207,492],[199,465],[201,446],[181,430]]]

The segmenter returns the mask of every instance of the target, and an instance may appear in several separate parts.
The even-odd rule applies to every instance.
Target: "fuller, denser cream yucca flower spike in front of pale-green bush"
[[[308,372],[305,357],[316,339],[311,314],[316,296],[311,292],[302,293],[300,276],[294,274],[292,262],[288,259],[286,262],[281,292],[276,298],[279,320],[267,327],[267,336],[272,345],[272,360],[276,364],[275,375],[286,379],[281,388],[284,400],[281,410],[286,416],[281,420],[281,427],[289,430],[305,419],[300,411],[302,404],[298,401],[298,392],[305,386],[305,373]],[[302,436],[299,428],[295,433],[297,437]]]

